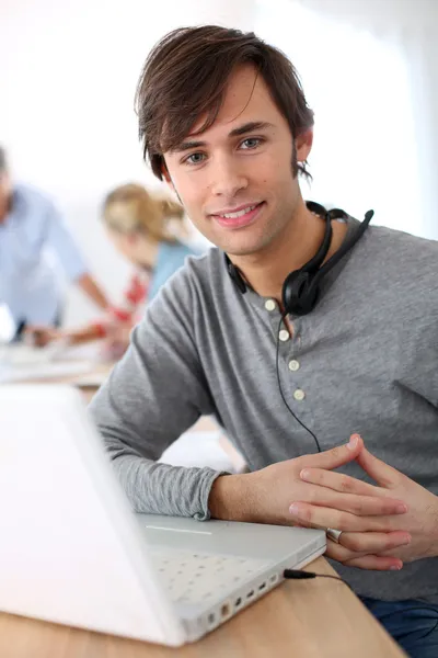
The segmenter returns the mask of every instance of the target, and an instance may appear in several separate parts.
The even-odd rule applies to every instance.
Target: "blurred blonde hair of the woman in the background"
[[[174,201],[153,196],[142,185],[128,183],[110,192],[102,215],[106,226],[117,232],[145,232],[158,242],[173,242],[168,220],[182,220],[184,209]]]

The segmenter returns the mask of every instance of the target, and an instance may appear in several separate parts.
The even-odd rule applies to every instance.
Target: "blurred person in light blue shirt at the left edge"
[[[12,182],[0,147],[0,300],[8,305],[18,336],[27,326],[60,325],[62,277],[50,251],[67,279],[105,309],[106,296],[89,273],[59,212],[39,191]]]

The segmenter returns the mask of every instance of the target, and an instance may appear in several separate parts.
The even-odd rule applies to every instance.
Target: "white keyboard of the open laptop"
[[[153,552],[152,563],[175,603],[207,603],[265,569],[270,560],[186,551]]]

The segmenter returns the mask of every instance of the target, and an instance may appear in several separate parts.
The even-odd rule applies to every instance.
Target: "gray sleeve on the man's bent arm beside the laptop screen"
[[[155,463],[200,415],[214,410],[193,340],[191,305],[182,271],[148,307],[90,409],[136,511],[204,520],[219,474]]]

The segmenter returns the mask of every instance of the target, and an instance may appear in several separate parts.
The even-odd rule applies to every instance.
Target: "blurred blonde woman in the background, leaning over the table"
[[[44,347],[57,339],[66,339],[69,344],[106,339],[108,356],[119,356],[145,304],[153,299],[187,256],[198,253],[170,230],[170,224],[176,220],[182,236],[183,218],[184,209],[178,203],[153,196],[142,185],[129,183],[113,190],[103,204],[103,222],[117,251],[135,265],[123,303],[78,330],[33,327],[33,341]]]

